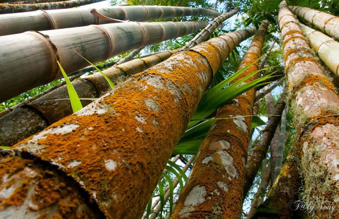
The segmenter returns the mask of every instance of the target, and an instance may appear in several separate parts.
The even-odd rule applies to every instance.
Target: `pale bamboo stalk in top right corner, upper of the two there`
[[[291,6],[289,8],[298,17],[303,18],[329,36],[339,40],[339,17],[306,7]]]

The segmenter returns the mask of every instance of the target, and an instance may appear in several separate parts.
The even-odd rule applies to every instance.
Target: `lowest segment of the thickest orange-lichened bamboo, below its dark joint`
[[[0,179],[1,218],[102,218],[74,182],[32,160],[3,156]]]

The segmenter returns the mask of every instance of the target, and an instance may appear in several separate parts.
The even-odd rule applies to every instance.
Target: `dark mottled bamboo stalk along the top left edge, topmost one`
[[[0,14],[31,12],[35,10],[67,9],[79,7],[104,0],[68,0],[61,2],[33,3],[33,4],[0,4]]]

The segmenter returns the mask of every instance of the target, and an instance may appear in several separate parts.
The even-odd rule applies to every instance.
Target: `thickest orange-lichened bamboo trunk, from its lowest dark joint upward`
[[[254,31],[178,52],[12,148],[76,181],[107,218],[140,218],[213,74]]]

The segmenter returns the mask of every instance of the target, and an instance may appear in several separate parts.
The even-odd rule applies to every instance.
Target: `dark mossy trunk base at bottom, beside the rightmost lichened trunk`
[[[298,153],[297,145],[292,146],[267,199],[257,207],[252,219],[287,219],[291,217],[292,210],[297,209],[295,204],[298,203],[297,193],[301,186]]]

